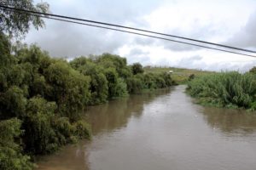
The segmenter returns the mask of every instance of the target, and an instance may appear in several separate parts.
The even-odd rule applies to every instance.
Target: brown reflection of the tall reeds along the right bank
[[[211,127],[224,133],[249,134],[256,130],[256,114],[243,110],[204,108],[203,115]]]

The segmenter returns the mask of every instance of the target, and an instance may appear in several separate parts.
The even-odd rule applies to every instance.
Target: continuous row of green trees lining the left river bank
[[[67,62],[0,34],[0,169],[32,169],[31,157],[90,138],[81,119],[86,105],[173,83],[169,74],[143,74],[142,65],[118,55]]]

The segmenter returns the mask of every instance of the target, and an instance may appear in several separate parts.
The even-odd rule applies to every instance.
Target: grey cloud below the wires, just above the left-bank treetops
[[[33,31],[27,41],[37,42],[55,57],[113,53],[125,43],[126,35],[68,23],[50,23],[47,31]]]

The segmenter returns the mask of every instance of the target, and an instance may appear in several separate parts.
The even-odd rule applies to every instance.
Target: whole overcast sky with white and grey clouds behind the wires
[[[40,3],[41,0],[34,0]],[[255,0],[44,0],[52,14],[195,38],[256,50]],[[208,71],[248,71],[256,58],[140,37],[123,32],[45,20],[24,42],[53,57],[73,59],[111,53],[128,64],[175,66]],[[173,39],[173,38],[172,38]]]

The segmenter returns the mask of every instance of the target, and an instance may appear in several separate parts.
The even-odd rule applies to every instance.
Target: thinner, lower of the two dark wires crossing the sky
[[[3,8],[3,5],[0,4],[0,7]],[[13,10],[16,10],[16,9],[8,7],[7,10],[13,11]],[[173,40],[173,39],[169,39],[169,38],[165,38],[165,37],[155,37],[155,36],[150,36],[150,35],[143,34],[143,33],[137,33],[137,32],[133,32],[133,31],[125,31],[125,30],[110,28],[110,27],[107,27],[107,26],[97,26],[97,25],[85,24],[85,23],[82,23],[82,22],[73,21],[72,17],[67,17],[67,18],[71,18],[70,20],[62,20],[62,19],[58,19],[58,18],[63,18],[63,17],[60,17],[61,15],[44,14],[44,13],[39,13],[39,12],[34,12],[34,11],[30,12],[29,10],[25,10],[25,9],[18,9],[18,11],[16,11],[16,12],[23,13],[23,14],[26,13],[26,14],[30,14],[30,15],[42,17],[42,18],[45,18],[45,19],[50,19],[50,20],[65,21],[65,22],[84,25],[84,26],[93,26],[93,27],[108,29],[108,30],[112,30],[112,31],[121,31],[121,32],[131,33],[131,34],[135,34],[135,35],[139,35],[139,36],[143,36],[143,37],[153,37],[153,38],[162,39],[162,40],[166,40],[166,41],[170,41],[170,42],[179,42],[179,43],[183,43],[183,44],[187,44],[187,45],[192,45],[192,46],[201,47],[201,48],[214,49],[214,50],[227,52],[227,53],[231,53],[231,54],[241,54],[241,53],[237,53],[237,52],[230,51],[230,50],[225,50],[225,49],[220,49],[220,48],[211,48],[211,47],[207,47],[207,46],[203,46],[203,45],[199,45],[199,44],[195,44],[195,43],[182,42],[182,41],[177,41],[177,40]],[[44,15],[42,15],[42,14],[44,14]],[[45,16],[45,15],[55,15],[55,17],[57,17],[57,18],[49,17],[49,16]],[[64,16],[64,17],[66,17],[66,16]],[[79,19],[79,20],[82,20],[82,19]],[[256,57],[256,56],[251,55],[251,54],[241,54],[241,55],[245,55],[245,56],[249,56],[249,57]]]

